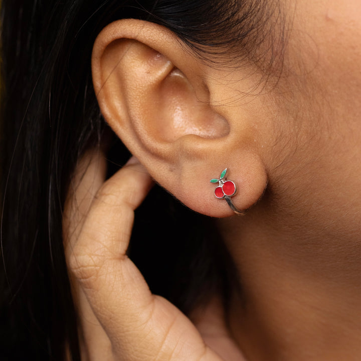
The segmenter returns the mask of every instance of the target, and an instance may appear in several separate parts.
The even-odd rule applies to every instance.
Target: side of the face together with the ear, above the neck
[[[256,203],[268,177],[267,195],[274,202],[265,197],[263,204],[272,207],[267,214],[278,229],[289,225],[308,239],[308,231],[314,237],[325,231],[336,237],[354,232],[358,239],[361,5],[356,0],[342,5],[284,0],[281,6],[282,19],[275,20],[285,25],[283,37],[277,43],[274,31],[275,42],[260,50],[265,45],[276,59],[269,73],[278,70],[279,60],[284,60],[282,72],[266,85],[260,82],[258,64],[253,67],[248,59],[239,60],[248,64],[238,67],[223,67],[229,59],[209,67],[162,27],[115,22],[110,27],[118,33],[104,30],[94,46],[98,102],[154,179],[191,209],[212,217],[232,215],[227,204],[214,198],[212,185],[206,198],[203,190],[189,187],[195,174],[209,184],[227,166],[239,185],[237,208]],[[145,26],[151,32],[144,33]],[[131,39],[132,51],[125,50],[128,43],[112,41],[114,34],[118,40]],[[149,74],[157,87],[147,82]],[[210,164],[217,172],[210,172]]]

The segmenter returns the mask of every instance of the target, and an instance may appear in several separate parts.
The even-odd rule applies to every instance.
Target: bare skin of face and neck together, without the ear
[[[360,17],[356,1],[297,2],[270,191],[221,222],[246,304],[235,297],[231,328],[249,359],[361,355]]]

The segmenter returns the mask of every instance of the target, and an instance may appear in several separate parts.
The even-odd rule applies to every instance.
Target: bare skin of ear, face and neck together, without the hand
[[[243,286],[227,321],[247,360],[357,360],[361,5],[281,9],[285,52],[274,77],[207,64],[163,28],[122,21],[94,45],[94,86],[107,122],[150,175],[191,209],[222,217]],[[245,217],[231,217],[209,185],[226,166]],[[190,191],[195,174],[205,187]]]

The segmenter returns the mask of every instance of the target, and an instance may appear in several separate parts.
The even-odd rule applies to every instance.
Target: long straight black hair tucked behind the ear
[[[142,19],[170,29],[200,59],[237,52],[252,61],[263,3],[2,0],[2,360],[64,361],[66,346],[80,359],[62,210],[77,161],[110,132],[90,70],[98,33],[117,19]],[[128,157],[112,137],[108,175]],[[137,211],[130,257],[154,293],[187,313],[215,287],[227,298],[234,272],[223,247],[208,218],[156,187]]]

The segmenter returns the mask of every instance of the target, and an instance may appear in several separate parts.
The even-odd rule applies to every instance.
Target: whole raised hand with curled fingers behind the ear
[[[82,159],[63,220],[82,359],[221,361],[189,318],[164,298],[151,294],[126,256],[134,209],[152,186],[147,171],[131,158],[104,182],[105,169],[100,152],[89,152]],[[214,309],[216,312],[210,313]],[[194,316],[201,329],[205,325],[207,332],[211,329],[208,340],[230,357],[226,361],[241,361],[244,358],[217,310],[220,307],[212,302]]]

